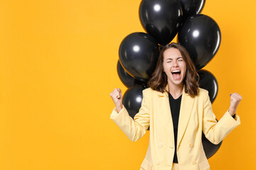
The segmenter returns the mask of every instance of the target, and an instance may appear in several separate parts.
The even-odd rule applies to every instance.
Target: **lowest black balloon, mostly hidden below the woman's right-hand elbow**
[[[206,153],[207,159],[213,156],[218,149],[220,148],[220,145],[222,144],[222,141],[218,145],[214,145],[212,142],[210,142],[206,135],[202,133],[202,143],[203,143],[203,150]]]

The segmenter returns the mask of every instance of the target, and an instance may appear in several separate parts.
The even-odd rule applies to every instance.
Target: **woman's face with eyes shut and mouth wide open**
[[[169,84],[183,84],[186,74],[186,62],[183,60],[181,52],[178,49],[171,47],[164,51],[163,65]]]

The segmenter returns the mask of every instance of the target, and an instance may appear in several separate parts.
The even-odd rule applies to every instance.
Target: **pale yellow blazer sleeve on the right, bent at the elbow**
[[[239,115],[235,114],[233,118],[228,111],[217,123],[207,91],[203,106],[203,133],[206,138],[218,145],[238,125],[240,125]]]

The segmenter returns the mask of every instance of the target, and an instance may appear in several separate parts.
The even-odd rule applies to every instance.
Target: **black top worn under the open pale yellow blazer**
[[[182,98],[182,95],[174,99],[173,96],[169,94],[171,117],[173,119],[173,124],[174,124],[174,142],[175,142],[174,163],[178,163],[176,148],[177,148],[177,138],[178,138],[178,118],[179,118],[179,112],[181,109],[181,98]],[[235,115],[233,115],[232,117],[235,118]]]

